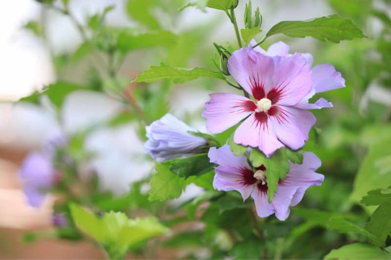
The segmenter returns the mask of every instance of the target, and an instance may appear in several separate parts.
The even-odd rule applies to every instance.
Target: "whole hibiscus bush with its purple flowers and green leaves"
[[[53,56],[58,81],[19,102],[49,106],[60,125],[76,92],[120,107],[62,129],[24,160],[31,206],[57,198],[51,238],[90,241],[110,259],[391,259],[389,1],[329,0],[337,14],[270,29],[251,0],[129,0],[129,28],[105,23],[119,6],[79,22],[71,0],[39,2],[70,19],[83,42]],[[175,23],[191,8],[219,12],[236,41],[209,40],[217,21],[171,32],[152,11]],[[39,22],[28,25],[45,39]],[[318,41],[299,52],[288,44],[295,38]],[[130,56],[138,66],[121,73]],[[73,82],[66,70],[80,62],[85,80]],[[201,93],[182,100],[191,109],[209,93],[202,111],[170,106],[181,88]],[[124,125],[144,155],[131,150],[134,139],[90,149],[91,133]]]

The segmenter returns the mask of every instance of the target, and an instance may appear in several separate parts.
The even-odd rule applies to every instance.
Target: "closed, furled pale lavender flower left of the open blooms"
[[[152,122],[146,131],[148,140],[144,145],[145,152],[158,162],[191,155],[207,144],[204,138],[189,134],[189,131],[196,130],[171,114]]]

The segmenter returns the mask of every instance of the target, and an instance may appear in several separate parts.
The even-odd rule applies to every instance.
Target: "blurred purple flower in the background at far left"
[[[30,153],[22,162],[20,174],[28,203],[39,207],[46,190],[52,187],[57,178],[50,157],[39,152]]]

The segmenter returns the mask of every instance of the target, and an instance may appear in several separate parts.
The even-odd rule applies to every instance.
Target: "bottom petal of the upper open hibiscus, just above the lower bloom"
[[[234,141],[242,145],[259,147],[269,157],[283,144],[277,140],[273,124],[265,113],[254,113],[236,129]]]

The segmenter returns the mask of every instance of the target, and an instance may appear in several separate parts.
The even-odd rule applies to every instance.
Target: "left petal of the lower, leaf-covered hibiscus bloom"
[[[213,187],[217,190],[240,192],[246,200],[253,190],[256,179],[244,156],[234,156],[228,145],[209,149],[208,157],[211,162],[219,164],[215,168]]]

